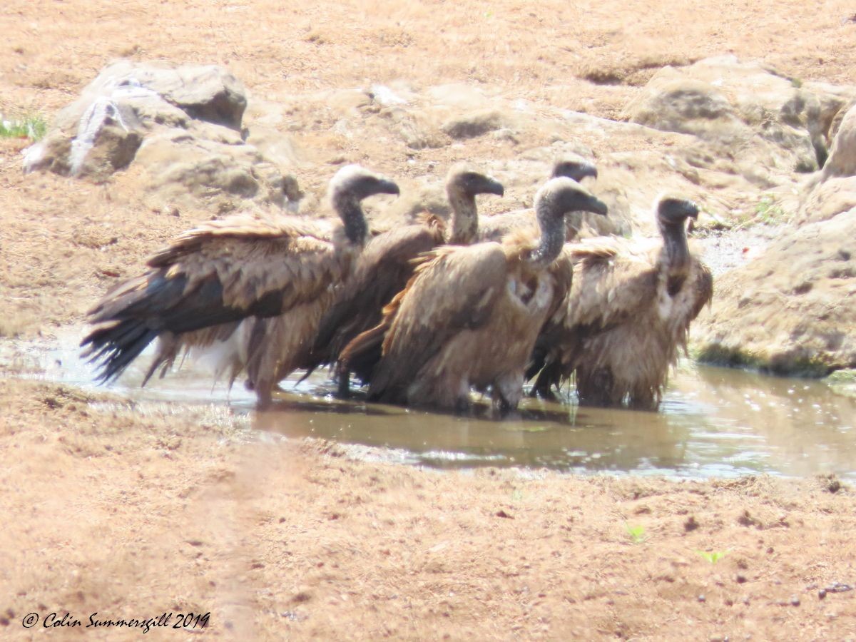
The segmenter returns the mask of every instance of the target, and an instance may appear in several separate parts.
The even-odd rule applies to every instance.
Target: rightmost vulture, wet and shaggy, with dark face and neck
[[[713,276],[687,245],[685,223],[698,207],[668,196],[655,214],[662,243],[595,238],[565,247],[560,263],[573,265],[574,282],[538,336],[526,372],[538,376],[533,395],[552,397],[574,374],[580,404],[657,409]]]

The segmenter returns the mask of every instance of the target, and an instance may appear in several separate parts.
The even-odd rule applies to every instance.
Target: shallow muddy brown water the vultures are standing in
[[[134,401],[228,404],[248,413],[259,434],[320,437],[355,454],[438,468],[547,467],[574,473],[657,474],[675,478],[770,473],[835,473],[856,479],[856,399],[822,382],[681,362],[660,412],[612,410],[526,400],[496,420],[485,403],[475,416],[338,401],[325,372],[282,383],[276,407],[253,413],[240,383],[211,383],[202,363],[140,388],[146,354],[119,382],[99,388],[76,347],[81,330],[58,340],[7,345],[0,358],[28,377],[108,389]],[[11,363],[10,363],[11,362]],[[7,368],[9,369],[9,368]],[[573,399],[570,390],[566,391]],[[365,448],[366,446],[372,448]]]

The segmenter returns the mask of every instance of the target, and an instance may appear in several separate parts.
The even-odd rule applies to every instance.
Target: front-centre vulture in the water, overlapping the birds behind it
[[[564,215],[580,210],[606,205],[576,181],[550,179],[535,198],[540,239],[521,231],[423,254],[381,323],[342,351],[346,367],[371,373],[368,399],[463,411],[474,386],[490,388],[502,413],[516,407],[538,330],[570,287],[572,270],[554,261]]]

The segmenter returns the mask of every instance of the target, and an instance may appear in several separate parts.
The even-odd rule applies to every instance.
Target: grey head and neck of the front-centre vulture
[[[586,187],[567,176],[551,178],[535,194],[535,214],[541,229],[541,244],[530,257],[533,264],[550,265],[565,242],[565,215],[571,211],[591,211],[606,215],[607,207]]]

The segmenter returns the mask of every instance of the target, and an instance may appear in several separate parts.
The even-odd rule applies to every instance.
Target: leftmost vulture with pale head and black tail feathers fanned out
[[[149,269],[113,288],[89,312],[98,327],[81,342],[98,361],[98,378],[115,379],[156,337],[158,354],[146,381],[161,376],[189,348],[216,347],[228,357],[231,380],[250,371],[259,407],[282,372],[298,367],[366,242],[361,201],[398,194],[398,186],[360,167],[343,167],[330,181],[342,225],[333,231],[293,217],[237,214],[202,223],[148,260]],[[247,318],[275,317],[282,332],[253,332]]]

